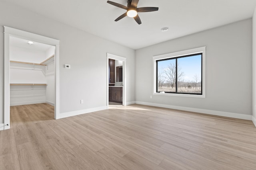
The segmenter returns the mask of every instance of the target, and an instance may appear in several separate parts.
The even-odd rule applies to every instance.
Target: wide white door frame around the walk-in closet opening
[[[60,118],[60,77],[59,77],[59,48],[60,41],[42,35],[37,35],[27,31],[22,31],[12,27],[4,26],[4,129],[10,129],[10,36],[22,39],[30,39],[38,43],[55,46],[55,105],[54,119]]]

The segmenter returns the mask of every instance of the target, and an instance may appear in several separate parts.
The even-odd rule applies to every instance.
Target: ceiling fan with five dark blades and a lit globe
[[[118,4],[116,2],[112,2],[112,1],[107,1],[108,4],[117,6],[119,8],[122,8],[124,10],[127,10],[126,13],[122,14],[121,16],[119,16],[118,18],[116,18],[115,21],[119,21],[122,18],[128,16],[128,17],[132,17],[134,18],[134,20],[138,23],[141,24],[141,20],[140,17],[138,16],[138,12],[152,12],[152,11],[158,11],[158,7],[142,7],[142,8],[137,8],[139,0],[128,0],[127,2],[127,6]]]

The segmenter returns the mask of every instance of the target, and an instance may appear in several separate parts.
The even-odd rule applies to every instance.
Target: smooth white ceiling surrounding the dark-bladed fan
[[[107,0],[4,0],[72,25],[132,49],[182,37],[220,25],[252,18],[256,0],[140,0],[140,7],[159,7],[138,13],[142,24]],[[111,0],[127,5],[127,0]],[[169,31],[161,32],[162,27]]]

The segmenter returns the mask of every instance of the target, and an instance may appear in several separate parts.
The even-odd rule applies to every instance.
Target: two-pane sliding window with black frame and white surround
[[[154,56],[153,62],[154,94],[205,97],[205,47]]]

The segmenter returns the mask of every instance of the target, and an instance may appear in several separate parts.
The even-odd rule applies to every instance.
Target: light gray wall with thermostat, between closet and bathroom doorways
[[[60,113],[106,106],[106,53],[126,57],[127,102],[135,100],[135,51],[1,1],[0,123],[3,122],[4,25],[60,40]],[[64,69],[71,64],[71,69]],[[80,104],[80,100],[84,104]]]

